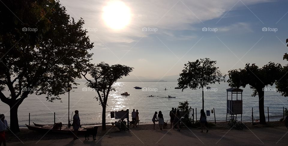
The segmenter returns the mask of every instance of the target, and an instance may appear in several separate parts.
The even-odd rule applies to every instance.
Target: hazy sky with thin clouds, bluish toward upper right
[[[223,73],[246,63],[287,64],[282,59],[288,52],[286,0],[122,2],[117,5],[129,8],[129,23],[113,29],[103,15],[115,1],[60,1],[71,17],[85,20],[95,43],[93,63],[125,64],[135,68],[130,75],[153,78],[179,74],[184,63],[199,58],[216,60]],[[115,15],[122,13],[115,9]],[[116,26],[127,21],[127,16],[118,17]]]

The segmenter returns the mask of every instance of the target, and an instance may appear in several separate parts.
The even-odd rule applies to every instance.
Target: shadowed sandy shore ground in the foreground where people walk
[[[158,126],[158,125],[156,125]],[[169,126],[169,125],[168,125]],[[180,132],[173,129],[152,130],[152,124],[131,128],[130,131],[117,131],[111,127],[98,131],[96,140],[73,140],[73,135],[55,133],[38,133],[22,129],[16,138],[8,133],[7,145],[287,145],[288,130],[281,122],[270,122],[266,125],[247,123],[243,130],[226,127],[223,122],[217,127],[209,128],[208,133],[200,133],[199,128],[183,128]]]

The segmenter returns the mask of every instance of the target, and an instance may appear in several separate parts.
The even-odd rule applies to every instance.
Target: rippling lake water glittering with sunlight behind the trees
[[[85,86],[84,82],[78,82],[78,88],[72,89],[70,92],[70,114],[74,110],[79,110],[82,113],[100,113],[102,107],[95,100],[96,92]],[[143,89],[134,89],[139,86]],[[114,84],[116,91],[112,91],[108,98],[107,111],[117,111],[129,109],[138,109],[141,122],[151,122],[155,111],[162,111],[164,120],[169,119],[169,111],[172,107],[177,107],[179,102],[188,101],[191,108],[197,108],[199,112],[202,109],[202,90],[175,89],[177,82],[117,82]],[[215,109],[217,121],[225,121],[226,119],[226,89],[229,88],[228,83],[210,85],[210,91],[204,91],[204,108],[205,110]],[[167,88],[167,90],[164,90]],[[265,116],[267,119],[267,107],[269,107],[270,120],[279,120],[283,115],[283,106],[287,107],[287,97],[282,97],[280,93],[274,91],[273,87],[267,87],[269,91],[265,91]],[[259,118],[258,97],[251,97],[252,89],[249,85],[243,91],[243,121],[250,121],[253,107],[254,118]],[[130,96],[121,96],[123,92],[128,92]],[[6,95],[8,91],[4,92]],[[155,97],[148,97],[154,95]],[[176,98],[164,98],[171,95]],[[240,94],[239,94],[240,95]],[[231,99],[231,94],[228,94],[228,99]],[[236,98],[235,94],[233,99]],[[29,95],[27,99],[19,106],[18,115],[28,116],[29,112],[32,115],[51,115],[67,114],[68,110],[68,94],[61,95],[62,103],[59,100],[50,103],[46,101],[45,96]],[[239,96],[238,99],[241,97]],[[9,106],[0,102],[1,113],[9,111]],[[9,112],[5,114],[9,116]],[[214,116],[207,118],[210,121],[214,120]],[[7,119],[8,120],[8,119]]]

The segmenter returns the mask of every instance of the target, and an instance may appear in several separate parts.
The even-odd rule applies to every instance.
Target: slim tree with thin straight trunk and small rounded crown
[[[222,75],[219,67],[215,67],[216,61],[209,58],[197,59],[194,62],[188,61],[184,64],[184,69],[180,73],[178,85],[182,91],[186,88],[196,90],[202,88],[202,109],[204,110],[204,88],[207,85],[215,84],[216,82],[225,82],[225,76]]]

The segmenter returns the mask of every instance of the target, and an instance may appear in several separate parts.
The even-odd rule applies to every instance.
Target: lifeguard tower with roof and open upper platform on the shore
[[[227,119],[237,120],[237,115],[241,114],[242,121],[242,89],[239,88],[229,88],[227,91],[227,113],[226,113],[226,121]],[[228,92],[231,92],[231,100],[228,100]],[[233,94],[236,94],[236,100],[233,100]],[[238,100],[238,94],[241,94],[241,100]],[[234,97],[235,98],[235,97]]]

